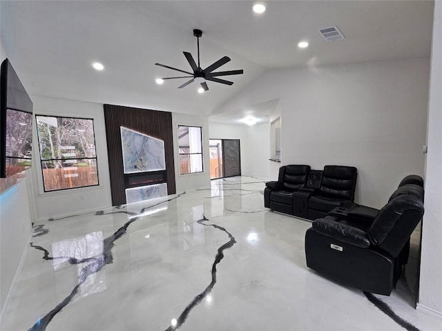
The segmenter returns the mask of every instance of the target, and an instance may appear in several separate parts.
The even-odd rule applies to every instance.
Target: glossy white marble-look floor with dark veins
[[[403,330],[307,268],[311,223],[264,208],[264,188],[219,179],[35,225],[1,330]],[[419,330],[442,330],[405,280],[376,297]]]

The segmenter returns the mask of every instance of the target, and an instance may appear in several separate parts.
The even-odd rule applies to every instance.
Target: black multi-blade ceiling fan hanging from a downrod
[[[207,86],[206,81],[215,81],[216,83],[232,85],[233,81],[226,81],[224,79],[219,79],[216,77],[244,73],[244,70],[229,70],[229,71],[213,72],[213,70],[216,70],[216,69],[220,68],[220,66],[229,62],[230,61],[229,57],[222,57],[221,59],[219,59],[215,63],[211,64],[211,66],[208,66],[207,68],[202,69],[200,66],[200,37],[202,36],[202,31],[195,29],[195,30],[193,30],[193,35],[197,38],[198,66],[196,65],[195,60],[193,59],[191,53],[183,52],[184,57],[186,57],[187,61],[191,65],[193,72],[189,72],[189,71],[185,71],[185,70],[181,70],[181,69],[177,69],[177,68],[172,68],[169,66],[165,66],[164,64],[161,64],[161,63],[155,63],[156,66],[184,72],[185,74],[190,74],[191,76],[166,77],[166,78],[162,78],[162,79],[165,80],[165,79],[175,79],[175,78],[191,78],[189,81],[186,81],[186,83],[182,84],[182,86],[178,86],[178,88],[184,88],[184,86],[188,86],[193,81],[196,81],[197,83],[200,83],[201,87],[204,89],[204,91],[206,91],[206,90],[209,90],[209,86]]]

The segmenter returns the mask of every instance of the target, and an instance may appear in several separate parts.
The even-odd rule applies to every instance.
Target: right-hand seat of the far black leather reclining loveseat
[[[320,188],[309,199],[309,219],[326,217],[336,207],[354,201],[358,170],[344,165],[325,165]]]

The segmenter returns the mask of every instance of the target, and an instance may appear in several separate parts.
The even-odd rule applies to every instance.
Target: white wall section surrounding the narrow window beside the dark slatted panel
[[[180,174],[177,139],[178,126],[200,126],[202,128],[203,172],[195,174]],[[173,159],[175,161],[175,185],[177,193],[195,188],[210,187],[209,123],[207,117],[173,112],[172,132]]]

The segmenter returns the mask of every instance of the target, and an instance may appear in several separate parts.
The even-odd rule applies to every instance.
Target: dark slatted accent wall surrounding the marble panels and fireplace
[[[104,123],[106,125],[113,205],[126,203],[120,126],[164,141],[167,192],[168,194],[176,193],[171,112],[104,105]]]

